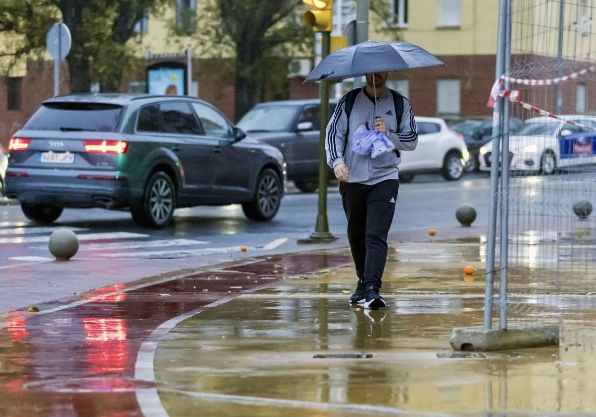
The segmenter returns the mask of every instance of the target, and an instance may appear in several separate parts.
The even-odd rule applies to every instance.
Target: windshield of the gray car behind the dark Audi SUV
[[[297,105],[262,105],[253,107],[237,123],[244,132],[283,132],[290,129]]]

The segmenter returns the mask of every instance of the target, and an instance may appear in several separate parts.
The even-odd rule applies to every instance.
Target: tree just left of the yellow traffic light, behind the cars
[[[302,0],[205,0],[195,35],[201,54],[235,57],[235,113],[240,119],[264,98],[283,89],[291,57],[314,55],[311,27],[302,24]],[[375,24],[392,30],[387,0],[371,0]]]

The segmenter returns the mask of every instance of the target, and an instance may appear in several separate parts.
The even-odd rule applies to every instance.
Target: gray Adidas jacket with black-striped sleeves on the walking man
[[[346,99],[347,94],[340,99],[327,125],[327,134],[325,135],[327,164],[333,168],[344,162],[350,171],[349,182],[373,185],[386,179],[399,179],[398,164],[401,162],[401,158],[395,152],[388,152],[376,158],[372,158],[371,155],[359,155],[352,151],[352,136],[358,126],[368,122],[372,128],[375,116],[381,116],[387,126],[387,137],[393,141],[395,149],[413,151],[418,144],[418,134],[414,123],[414,113],[412,113],[408,99],[403,98],[402,122],[399,129],[393,95],[389,89],[386,88],[381,97],[377,98],[375,111],[374,98],[369,98],[363,88],[356,95],[354,106],[350,112],[349,124],[347,123]],[[346,129],[348,127],[346,144]]]

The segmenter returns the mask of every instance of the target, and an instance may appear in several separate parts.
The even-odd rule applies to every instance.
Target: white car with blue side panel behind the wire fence
[[[569,123],[567,120],[573,122]],[[517,135],[509,137],[509,169],[545,175],[559,169],[596,163],[592,139],[596,117],[566,115],[559,119],[527,119]],[[587,140],[586,140],[587,139]],[[480,148],[480,170],[491,170],[492,142]]]

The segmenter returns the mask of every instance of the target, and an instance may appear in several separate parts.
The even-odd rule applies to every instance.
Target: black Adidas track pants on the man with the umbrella
[[[395,213],[398,189],[396,179],[375,185],[339,184],[356,275],[367,285],[373,284],[377,288],[381,288],[387,261],[387,234]]]

